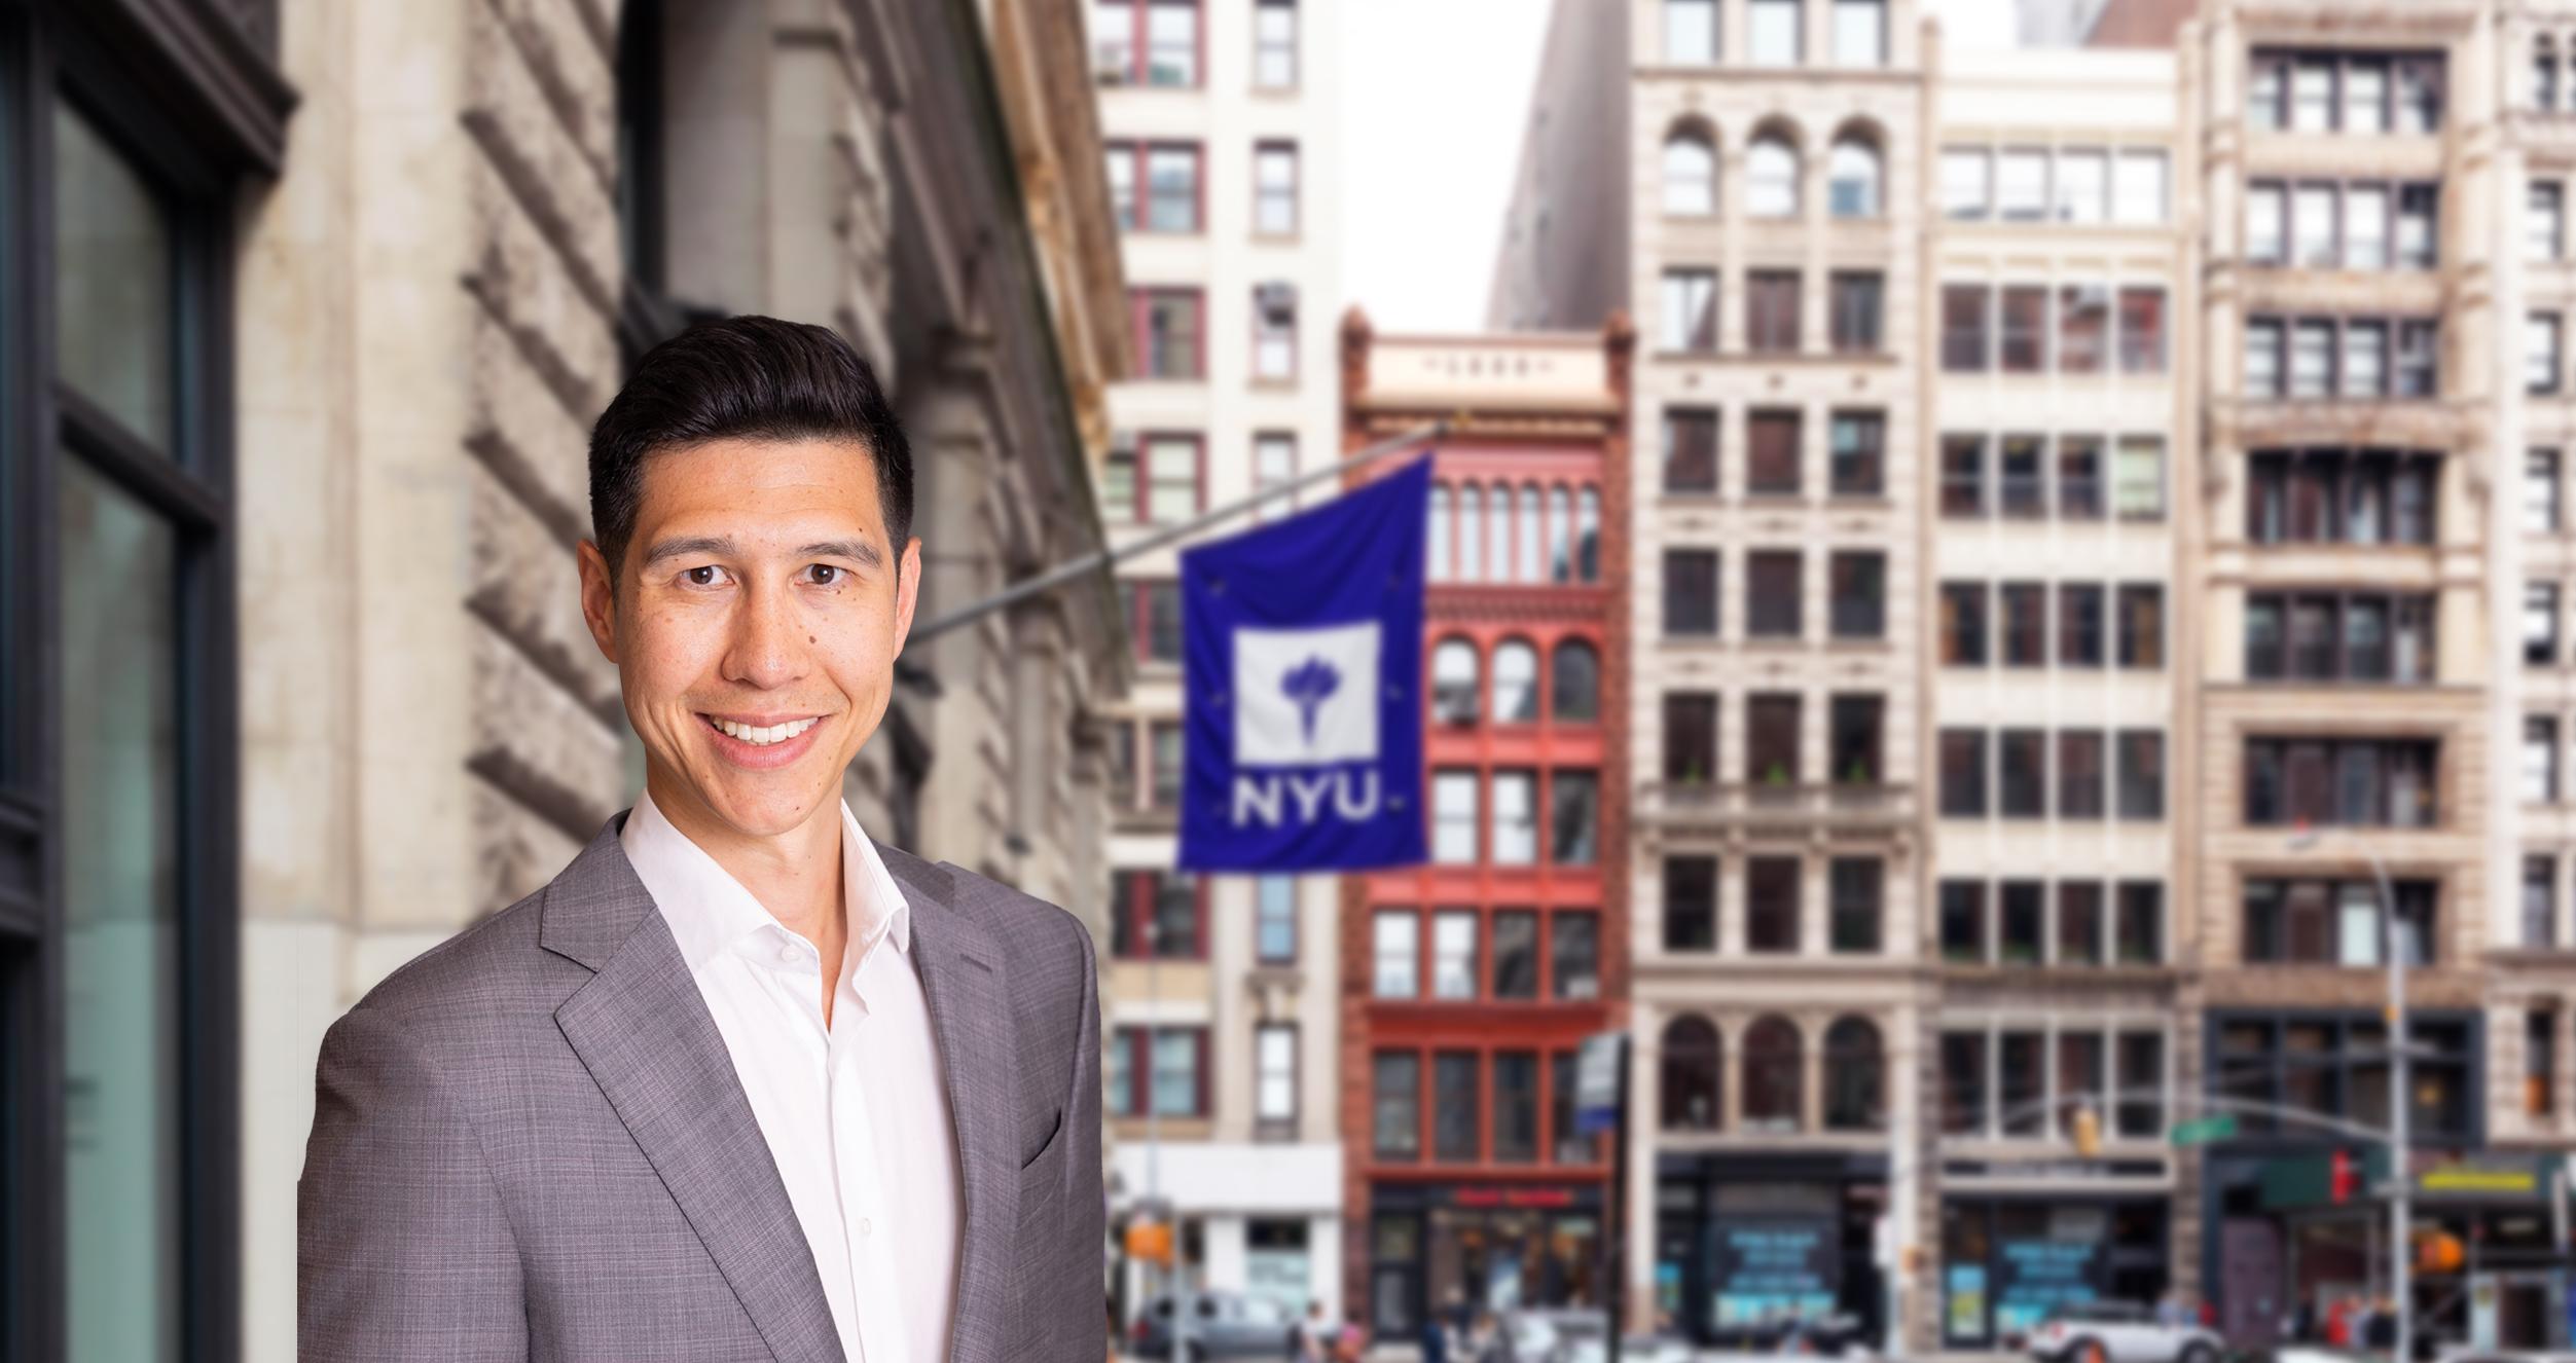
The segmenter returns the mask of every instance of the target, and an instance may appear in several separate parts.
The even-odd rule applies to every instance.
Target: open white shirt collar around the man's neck
[[[752,891],[742,889],[732,871],[662,814],[652,791],[636,796],[626,827],[618,830],[618,845],[670,922],[670,935],[680,943],[690,971],[703,969],[755,933],[788,933],[778,915],[752,899]],[[842,912],[850,925],[848,964],[858,964],[878,938],[889,938],[896,951],[909,953],[912,904],[894,873],[886,871],[886,861],[876,855],[876,843],[858,827],[848,801],[840,806],[840,868]]]

